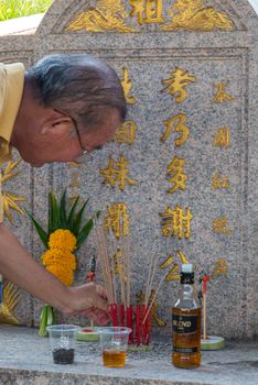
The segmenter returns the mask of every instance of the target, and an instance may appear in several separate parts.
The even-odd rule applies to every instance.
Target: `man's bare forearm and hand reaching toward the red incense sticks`
[[[86,315],[99,324],[108,321],[108,302],[103,286],[95,283],[65,286],[25,251],[3,223],[0,223],[0,272],[18,286],[63,312]]]

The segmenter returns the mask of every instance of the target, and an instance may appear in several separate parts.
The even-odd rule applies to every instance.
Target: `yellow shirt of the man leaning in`
[[[0,166],[11,160],[10,139],[21,103],[24,85],[22,63],[0,63]],[[2,222],[2,190],[0,173],[0,223]]]

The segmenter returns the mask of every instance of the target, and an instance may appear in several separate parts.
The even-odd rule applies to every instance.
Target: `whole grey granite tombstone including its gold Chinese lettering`
[[[89,213],[103,210],[114,238],[128,220],[132,299],[152,255],[159,256],[155,287],[165,277],[154,314],[160,333],[170,333],[184,258],[212,277],[208,332],[258,332],[257,20],[244,0],[56,0],[34,35],[0,38],[1,62],[28,67],[50,53],[86,52],[117,70],[129,112],[116,141],[90,165],[21,163],[19,178],[3,188],[19,191],[43,223],[49,190],[65,187],[71,198],[90,198]],[[31,223],[12,218],[9,224],[40,261]],[[77,282],[95,252],[89,238]],[[22,294],[21,323],[37,324],[40,307]]]

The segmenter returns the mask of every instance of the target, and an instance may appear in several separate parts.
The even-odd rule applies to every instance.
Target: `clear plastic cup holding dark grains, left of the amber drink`
[[[76,334],[79,329],[76,324],[53,324],[46,328],[55,364],[74,363]]]

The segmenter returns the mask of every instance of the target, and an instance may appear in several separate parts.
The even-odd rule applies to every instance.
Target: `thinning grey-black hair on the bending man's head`
[[[25,76],[39,103],[68,114],[79,128],[101,124],[112,108],[125,120],[127,105],[120,80],[111,67],[93,56],[45,56]]]

